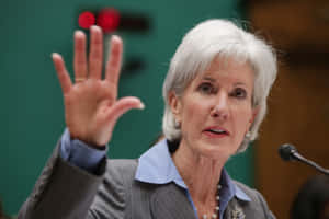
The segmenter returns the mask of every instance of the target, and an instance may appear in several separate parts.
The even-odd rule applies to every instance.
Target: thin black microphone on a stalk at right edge
[[[284,161],[294,161],[294,160],[302,161],[303,163],[306,163],[307,165],[315,168],[316,170],[324,173],[325,175],[329,175],[329,170],[326,170],[326,169],[321,168],[320,165],[318,165],[317,163],[315,163],[314,161],[307,160],[306,158],[300,155],[298,153],[297,149],[292,145],[284,143],[284,145],[280,146],[279,154],[282,158],[282,160],[284,160]]]

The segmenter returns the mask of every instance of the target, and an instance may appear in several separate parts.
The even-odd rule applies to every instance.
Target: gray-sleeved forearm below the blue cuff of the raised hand
[[[90,174],[64,161],[59,145],[21,208],[19,219],[87,218],[102,183],[106,159],[99,166],[100,175]]]

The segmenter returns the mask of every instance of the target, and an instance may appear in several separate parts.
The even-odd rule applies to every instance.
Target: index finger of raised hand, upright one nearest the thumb
[[[111,83],[115,84],[115,87],[117,87],[118,76],[121,71],[122,48],[122,39],[118,36],[113,35],[110,46],[110,59],[106,62],[105,78]]]

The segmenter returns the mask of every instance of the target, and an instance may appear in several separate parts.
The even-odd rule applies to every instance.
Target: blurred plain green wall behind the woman
[[[139,70],[122,72],[120,95],[136,95],[146,108],[120,119],[111,158],[137,158],[161,131],[161,85],[182,36],[206,19],[246,19],[241,0],[11,0],[2,4],[0,198],[8,214],[18,212],[65,128],[50,54],[60,53],[71,72],[78,14],[81,9],[103,7],[141,13],[150,23],[144,33],[115,33],[124,39],[124,65],[134,57],[145,62]],[[232,158],[227,169],[232,177],[253,185],[252,149]]]

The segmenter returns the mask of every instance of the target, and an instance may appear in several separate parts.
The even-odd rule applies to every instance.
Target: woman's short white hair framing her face
[[[202,22],[183,37],[171,59],[162,88],[164,99],[162,131],[171,141],[181,139],[180,127],[169,104],[169,93],[173,91],[181,96],[197,73],[204,72],[218,56],[248,62],[254,71],[252,107],[258,107],[258,114],[250,127],[250,137],[243,139],[237,151],[241,152],[247,149],[250,140],[254,140],[258,136],[277,67],[275,53],[270,45],[230,21],[216,19]]]

